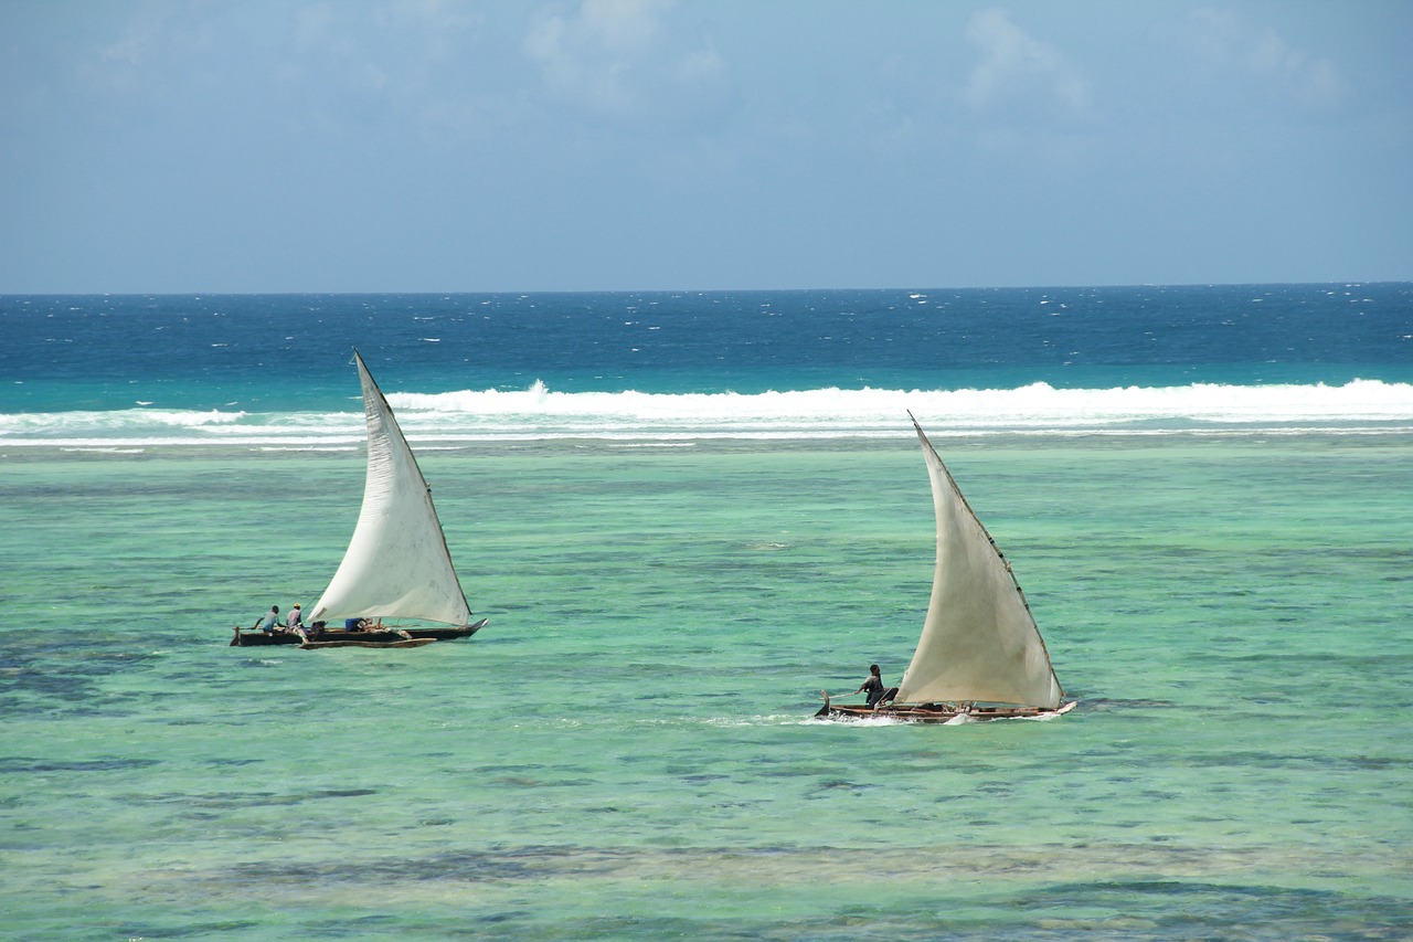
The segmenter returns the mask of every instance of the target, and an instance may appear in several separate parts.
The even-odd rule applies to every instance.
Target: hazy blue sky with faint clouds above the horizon
[[[1413,280],[1407,0],[0,0],[0,293]]]

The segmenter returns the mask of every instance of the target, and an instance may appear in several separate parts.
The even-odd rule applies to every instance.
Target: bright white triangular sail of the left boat
[[[471,608],[452,569],[431,491],[357,351],[353,359],[367,419],[363,509],[343,562],[309,620],[400,618],[465,625]]]

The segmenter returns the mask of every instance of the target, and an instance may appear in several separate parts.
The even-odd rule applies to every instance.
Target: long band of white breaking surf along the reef
[[[1056,389],[812,389],[755,395],[461,390],[389,396],[414,443],[606,438],[890,437],[907,412],[933,436],[1280,434],[1413,431],[1413,385]],[[339,447],[363,440],[362,412],[122,409],[0,414],[3,446]]]

